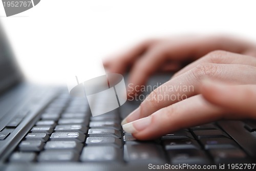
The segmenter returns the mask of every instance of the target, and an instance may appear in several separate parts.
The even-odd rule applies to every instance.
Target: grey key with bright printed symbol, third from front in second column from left
[[[69,141],[73,140],[76,142],[84,142],[84,139],[86,139],[86,135],[79,134],[77,132],[68,132],[68,133],[52,133],[51,140],[58,140],[58,141]]]

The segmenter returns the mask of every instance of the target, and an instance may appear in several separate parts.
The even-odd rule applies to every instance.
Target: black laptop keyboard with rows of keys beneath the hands
[[[137,107],[92,117],[85,99],[60,95],[41,113],[8,162],[121,162],[217,164],[249,163],[248,155],[219,123],[183,129],[152,141],[137,141],[124,133],[122,117]],[[256,124],[247,123],[248,134]],[[243,144],[242,144],[243,145]]]

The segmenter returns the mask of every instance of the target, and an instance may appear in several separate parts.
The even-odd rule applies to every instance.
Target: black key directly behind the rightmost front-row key
[[[203,138],[200,141],[205,149],[238,147],[236,142],[228,138]]]

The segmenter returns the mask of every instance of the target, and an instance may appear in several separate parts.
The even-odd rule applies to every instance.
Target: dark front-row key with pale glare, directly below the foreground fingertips
[[[124,160],[127,162],[163,162],[164,156],[160,145],[143,142],[126,142]]]

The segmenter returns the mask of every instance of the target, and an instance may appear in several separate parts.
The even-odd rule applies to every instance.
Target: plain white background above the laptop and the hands
[[[256,1],[41,0],[0,20],[29,80],[65,83],[79,66],[101,75],[101,58],[148,37],[224,33],[256,40]]]

